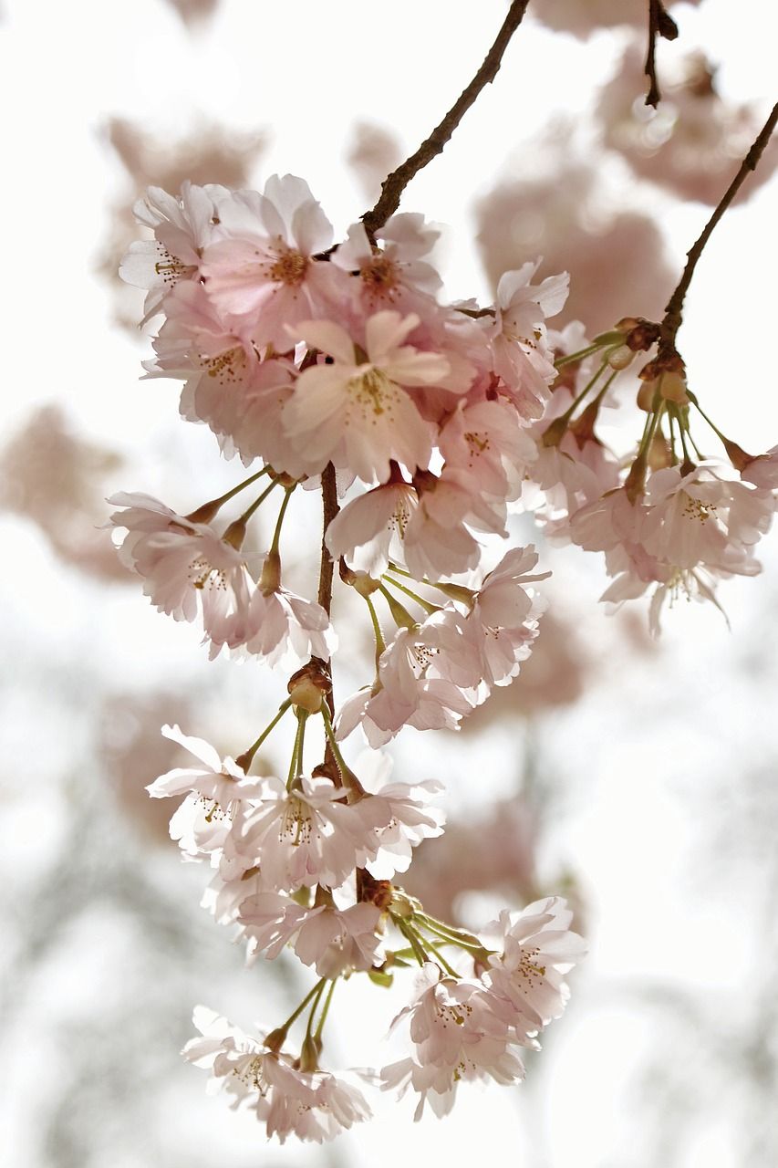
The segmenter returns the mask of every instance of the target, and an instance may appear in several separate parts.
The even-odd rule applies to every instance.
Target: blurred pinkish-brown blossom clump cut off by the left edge
[[[43,405],[0,453],[0,508],[37,523],[69,563],[121,579],[126,570],[102,530],[103,482],[120,464],[72,433],[58,405]]]

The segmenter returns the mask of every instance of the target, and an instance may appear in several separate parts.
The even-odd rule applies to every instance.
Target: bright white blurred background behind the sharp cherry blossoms
[[[284,679],[208,663],[102,529],[114,491],[187,512],[239,474],[180,422],[176,384],[139,381],[143,293],[116,277],[131,206],[147,183],[291,172],[341,234],[471,78],[505,8],[4,0],[0,1128],[15,1168],[459,1168],[506,1149],[534,1168],[778,1163],[774,536],[763,576],[722,585],[731,631],[680,604],[652,642],[644,604],[597,605],[598,557],[516,519],[554,570],[532,659],[458,738],[395,745],[396,774],[450,792],[449,832],[407,887],[472,926],[562,892],[590,940],[520,1089],[465,1087],[447,1120],[421,1125],[385,1098],[333,1146],[278,1148],[179,1057],[196,1002],[270,1027],[307,982],[291,961],[243,968],[199,908],[207,874],[167,837],[171,806],[144,791],[175,765],[162,722],[237,752]],[[762,0],[672,12],[652,114],[641,0],[532,0],[495,84],[403,197],[446,224],[451,298],[488,301],[502,270],[542,255],[541,276],[571,272],[553,324],[591,334],[661,313],[774,100],[778,30]],[[777,161],[773,144],[717,229],[681,333],[690,385],[752,453],[778,442]],[[297,523],[286,555],[305,588],[318,519]],[[340,694],[368,668],[362,630],[348,639]],[[286,750],[273,736],[263,765]],[[389,1061],[377,1043],[407,993],[354,979],[336,995],[333,1068]]]

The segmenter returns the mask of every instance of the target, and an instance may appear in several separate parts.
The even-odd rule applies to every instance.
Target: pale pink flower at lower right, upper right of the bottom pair
[[[586,952],[582,937],[570,931],[567,902],[549,896],[522,912],[503,909],[486,933],[501,933],[502,950],[489,957],[486,980],[493,989],[492,1009],[517,1041],[533,1037],[561,1016],[570,996],[564,974]]]

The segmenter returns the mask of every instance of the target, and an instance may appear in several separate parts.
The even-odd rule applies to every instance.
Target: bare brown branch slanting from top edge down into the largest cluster
[[[481,90],[496,77],[502,62],[502,55],[508,47],[508,41],[519,28],[529,0],[513,0],[508,15],[502,28],[496,35],[494,44],[487,53],[484,64],[478,70],[466,90],[457,98],[439,126],[432,131],[415,154],[398,166],[396,171],[384,179],[381,185],[381,197],[375,207],[362,216],[364,230],[373,237],[378,228],[382,228],[390,215],[394,215],[400,207],[400,199],[411,181],[428,162],[431,162],[436,154],[443,151],[452,133],[461,121],[463,117],[471,107]]]

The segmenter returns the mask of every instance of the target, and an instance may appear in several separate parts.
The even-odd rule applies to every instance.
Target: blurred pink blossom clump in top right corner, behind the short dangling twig
[[[716,92],[715,69],[700,53],[687,54],[675,71],[662,72],[657,110],[642,102],[645,49],[627,46],[612,79],[603,88],[597,117],[603,141],[644,179],[681,199],[715,207],[756,138],[764,116],[752,103],[735,104]],[[778,165],[773,137],[736,202],[749,199]]]

